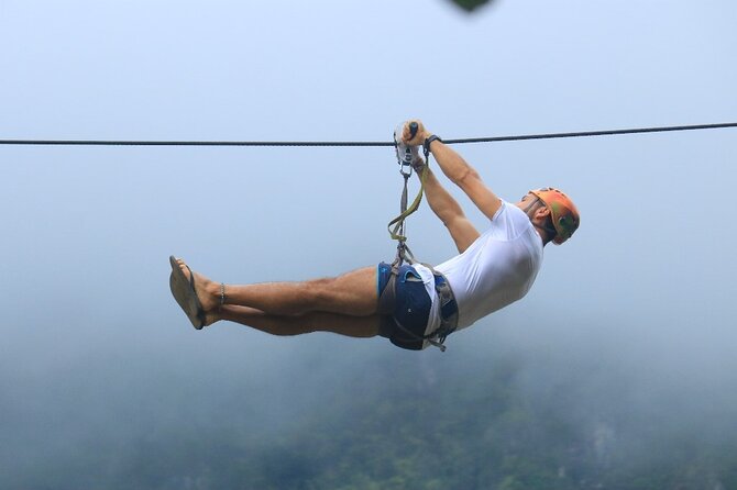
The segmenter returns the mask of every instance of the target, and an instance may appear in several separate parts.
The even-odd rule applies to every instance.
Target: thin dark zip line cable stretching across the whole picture
[[[516,136],[443,140],[447,144],[496,143],[564,137],[613,136],[620,134],[666,133],[674,131],[737,127],[737,123],[694,124],[683,126],[635,127],[628,130],[580,131],[574,133],[522,134]],[[394,142],[239,142],[239,141],[125,141],[125,140],[0,140],[0,145],[34,146],[394,146]]]

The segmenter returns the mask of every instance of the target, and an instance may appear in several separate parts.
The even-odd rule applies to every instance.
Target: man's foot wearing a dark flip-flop
[[[194,272],[184,260],[169,257],[172,275],[169,287],[172,294],[197,330],[219,320],[220,285],[201,274]]]

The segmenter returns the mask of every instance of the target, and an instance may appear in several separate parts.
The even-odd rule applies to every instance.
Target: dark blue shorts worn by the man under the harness
[[[392,277],[392,266],[381,263],[376,271],[376,288],[381,297]],[[398,347],[420,350],[425,344],[422,337],[430,318],[432,300],[425,289],[422,278],[413,266],[399,267],[395,293],[393,311],[382,316],[380,335]]]

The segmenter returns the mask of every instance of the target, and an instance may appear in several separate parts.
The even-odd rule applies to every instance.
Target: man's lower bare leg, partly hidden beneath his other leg
[[[224,305],[218,320],[228,320],[257,328],[272,335],[299,335],[309,332],[333,332],[351,337],[373,337],[378,334],[380,318],[351,316],[339,313],[310,312],[295,316],[278,316],[249,307]]]

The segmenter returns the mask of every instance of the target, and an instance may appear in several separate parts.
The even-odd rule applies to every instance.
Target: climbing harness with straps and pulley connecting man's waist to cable
[[[409,124],[409,131],[411,137],[414,138],[418,131],[418,125],[416,122]],[[407,235],[406,235],[406,220],[407,218],[416,212],[422,202],[422,196],[425,193],[425,181],[428,176],[428,168],[430,165],[430,143],[433,141],[442,141],[440,137],[432,135],[425,141],[422,145],[425,154],[425,164],[419,167],[416,166],[416,163],[419,159],[417,147],[407,146],[402,143],[402,135],[397,135],[400,130],[398,129],[394,133],[394,145],[397,156],[397,164],[399,165],[399,174],[404,178],[404,186],[402,189],[402,198],[399,199],[400,212],[395,219],[389,221],[387,229],[392,240],[397,241],[397,255],[392,263],[392,271],[389,279],[384,287],[384,290],[381,292],[378,298],[378,312],[382,314],[392,314],[394,305],[396,303],[396,280],[399,274],[399,267],[406,261],[409,265],[418,263],[415,259],[414,254],[407,246]],[[420,188],[415,197],[415,200],[410,205],[408,203],[408,181],[413,175],[413,171],[418,172],[420,180]],[[406,335],[415,341],[419,341],[421,344],[426,341],[441,352],[446,352],[446,337],[453,333],[458,326],[458,304],[455,302],[455,297],[453,296],[453,290],[448,282],[446,276],[437,271],[429,264],[424,264],[425,267],[429,268],[435,276],[435,287],[440,299],[440,326],[427,335],[417,335],[416,333],[409,331],[408,328],[400,325],[398,322],[394,322],[395,325]]]

